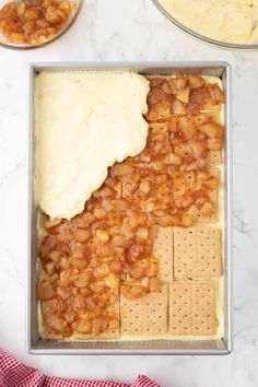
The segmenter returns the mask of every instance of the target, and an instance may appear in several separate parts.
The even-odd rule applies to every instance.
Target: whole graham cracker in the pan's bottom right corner
[[[216,292],[214,281],[174,282],[169,286],[169,333],[214,335]]]

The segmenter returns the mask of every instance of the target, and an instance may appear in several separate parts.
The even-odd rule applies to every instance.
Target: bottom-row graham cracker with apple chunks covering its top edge
[[[121,335],[164,335],[167,332],[167,286],[142,298],[120,298]]]

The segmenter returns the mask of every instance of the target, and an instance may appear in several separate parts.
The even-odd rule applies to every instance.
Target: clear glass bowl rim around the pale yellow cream
[[[157,9],[176,26],[178,26],[180,30],[185,31],[187,34],[197,37],[198,39],[201,39],[206,43],[209,43],[211,45],[214,45],[216,47],[222,47],[222,48],[231,48],[231,49],[243,49],[243,50],[258,50],[258,43],[257,44],[234,44],[234,43],[227,43],[227,42],[221,42],[221,40],[215,40],[212,39],[208,36],[198,34],[196,31],[188,28],[186,25],[181,24],[176,20],[162,4],[160,0],[152,0],[154,4],[157,7]],[[178,0],[180,1],[180,0]]]

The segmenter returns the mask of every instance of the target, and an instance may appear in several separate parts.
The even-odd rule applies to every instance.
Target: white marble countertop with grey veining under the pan
[[[235,350],[228,356],[33,356],[25,352],[28,63],[225,60],[233,67]],[[0,48],[0,344],[42,372],[162,387],[258,386],[258,52],[177,30],[151,0],[85,0],[71,31],[38,50]],[[19,386],[17,386],[19,387]]]

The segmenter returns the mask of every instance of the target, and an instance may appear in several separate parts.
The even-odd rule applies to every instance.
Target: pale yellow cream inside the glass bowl
[[[215,40],[258,43],[258,0],[161,0],[186,27]]]

